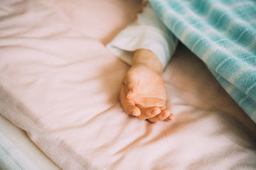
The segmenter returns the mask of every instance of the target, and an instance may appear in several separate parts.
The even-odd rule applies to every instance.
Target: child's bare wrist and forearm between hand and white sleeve
[[[134,52],[132,58],[132,66],[138,64],[147,66],[159,74],[163,72],[163,64],[161,61],[153,52],[147,49],[139,49]]]

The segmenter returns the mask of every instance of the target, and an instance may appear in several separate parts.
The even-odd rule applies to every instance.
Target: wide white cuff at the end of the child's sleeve
[[[131,64],[135,50],[144,48],[152,51],[164,67],[175,52],[177,39],[150,25],[131,25],[121,31],[107,45],[109,51]]]

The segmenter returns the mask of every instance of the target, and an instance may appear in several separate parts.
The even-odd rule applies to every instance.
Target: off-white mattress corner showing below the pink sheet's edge
[[[0,169],[59,170],[25,131],[0,115]]]

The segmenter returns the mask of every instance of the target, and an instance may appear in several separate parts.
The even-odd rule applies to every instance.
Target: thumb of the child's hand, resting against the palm
[[[128,71],[124,78],[124,88],[127,99],[132,99],[138,94],[138,76],[132,71]]]

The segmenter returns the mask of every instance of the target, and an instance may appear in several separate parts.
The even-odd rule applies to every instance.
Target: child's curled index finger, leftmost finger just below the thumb
[[[125,97],[124,87],[121,88],[120,101],[125,113],[136,117],[140,115],[140,109],[135,106],[134,101]]]

